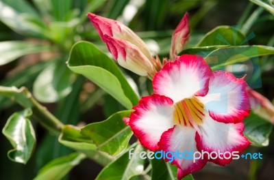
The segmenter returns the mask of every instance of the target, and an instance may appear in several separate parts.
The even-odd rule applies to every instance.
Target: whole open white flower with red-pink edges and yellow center
[[[142,97],[130,117],[124,118],[147,149],[240,154],[250,145],[242,134],[242,120],[250,111],[243,78],[212,72],[203,57],[182,55],[167,62],[152,83],[154,94]],[[177,178],[200,170],[208,161],[224,166],[232,160],[204,157],[195,163],[173,160]]]

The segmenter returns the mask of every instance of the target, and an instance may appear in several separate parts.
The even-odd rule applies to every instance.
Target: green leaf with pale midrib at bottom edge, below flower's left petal
[[[134,147],[134,145],[132,147]],[[97,176],[96,180],[127,180],[130,179],[130,177],[140,175],[144,170],[145,160],[142,160],[140,158],[131,158],[129,160],[128,151],[125,151],[123,155],[108,164],[108,166],[105,166],[105,168],[103,168],[103,170],[101,170],[101,172]],[[144,151],[144,149],[141,145],[137,145],[132,152],[136,153],[137,151]]]

